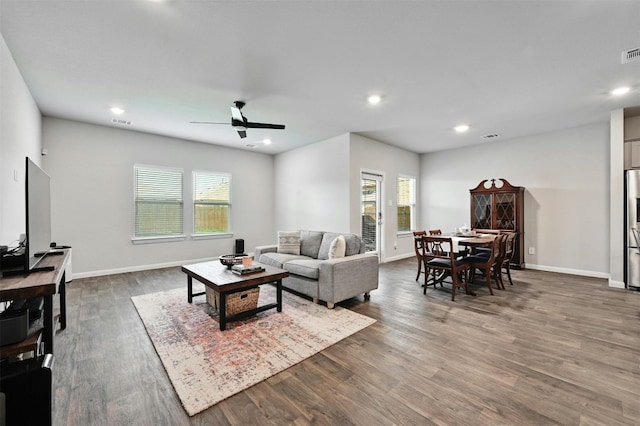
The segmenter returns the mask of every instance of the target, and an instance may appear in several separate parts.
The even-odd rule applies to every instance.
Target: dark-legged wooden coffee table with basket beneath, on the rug
[[[284,269],[262,265],[256,262],[254,262],[254,264],[262,266],[265,271],[247,275],[237,275],[217,260],[182,266],[182,272],[187,274],[187,302],[192,303],[194,296],[201,296],[205,294],[205,292],[193,293],[194,278],[220,294],[219,314],[221,331],[224,331],[227,328],[227,322],[229,321],[246,318],[257,314],[258,312],[263,312],[273,308],[276,308],[278,312],[282,312],[282,279],[288,277],[289,272]],[[255,309],[250,309],[227,317],[228,294],[249,290],[251,288],[258,287],[261,284],[268,283],[275,283],[276,285],[276,303],[258,306]]]

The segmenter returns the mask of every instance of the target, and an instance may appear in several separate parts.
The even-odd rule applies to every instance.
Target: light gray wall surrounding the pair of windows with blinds
[[[172,266],[274,239],[273,156],[112,127],[45,118],[44,168],[51,176],[53,239],[73,247],[74,277]],[[187,238],[132,244],[133,165],[184,169]],[[195,240],[189,203],[193,170],[232,175],[232,230]]]

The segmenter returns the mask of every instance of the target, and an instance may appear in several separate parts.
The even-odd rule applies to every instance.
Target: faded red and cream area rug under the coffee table
[[[259,304],[275,302],[275,293],[275,287],[261,286]],[[283,291],[282,312],[271,309],[227,323],[222,332],[204,296],[187,303],[186,286],[131,300],[190,416],[375,322]]]

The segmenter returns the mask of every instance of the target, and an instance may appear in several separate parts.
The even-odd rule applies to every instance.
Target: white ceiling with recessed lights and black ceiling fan
[[[110,126],[120,106],[131,130],[265,153],[347,132],[426,153],[606,122],[640,105],[640,61],[621,64],[639,18],[635,0],[0,0],[43,115]],[[228,122],[235,100],[286,130],[189,123]]]

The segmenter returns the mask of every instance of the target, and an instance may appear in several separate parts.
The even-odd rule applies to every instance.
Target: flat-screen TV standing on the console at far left
[[[29,271],[49,252],[51,244],[51,179],[27,157],[26,264]]]

